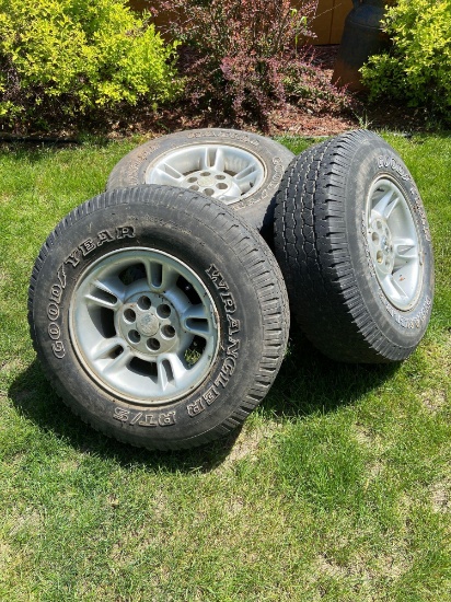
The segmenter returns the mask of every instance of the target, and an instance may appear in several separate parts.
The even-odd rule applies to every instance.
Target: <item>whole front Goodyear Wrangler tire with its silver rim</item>
[[[279,370],[289,312],[254,230],[215,199],[149,185],[104,193],[60,221],[33,268],[28,321],[77,415],[166,450],[244,421]]]

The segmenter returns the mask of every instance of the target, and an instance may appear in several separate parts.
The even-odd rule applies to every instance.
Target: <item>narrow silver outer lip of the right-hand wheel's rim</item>
[[[383,282],[383,280],[380,277],[380,270],[379,266],[377,265],[377,262],[373,258],[373,255],[371,253],[371,210],[372,210],[372,198],[374,195],[375,189],[383,184],[389,184],[393,190],[396,190],[400,194],[400,198],[402,201],[403,211],[406,216],[408,216],[409,220],[409,233],[415,234],[415,242],[418,248],[418,253],[416,256],[416,283],[414,286],[413,292],[408,296],[407,300],[405,302],[397,301],[396,299],[391,296],[386,290],[386,285]],[[417,223],[417,220],[415,219],[415,216],[413,213],[413,209],[410,207],[410,204],[407,200],[407,195],[404,192],[403,187],[400,186],[400,184],[391,176],[391,174],[379,174],[372,182],[369,193],[366,198],[366,211],[365,211],[365,220],[366,220],[366,235],[367,235],[367,245],[369,246],[369,258],[371,262],[371,268],[373,274],[375,275],[375,278],[378,280],[378,283],[385,297],[385,299],[397,310],[408,312],[412,310],[415,304],[417,303],[420,293],[421,293],[421,281],[423,281],[423,274],[424,274],[424,248],[423,248],[423,241],[420,236],[420,230]],[[390,218],[389,218],[390,220]],[[392,271],[393,274],[393,271]]]

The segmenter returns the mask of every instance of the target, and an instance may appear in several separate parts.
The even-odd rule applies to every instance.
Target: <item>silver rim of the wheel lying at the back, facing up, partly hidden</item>
[[[197,190],[231,205],[258,190],[264,164],[254,154],[232,146],[194,144],[164,154],[148,169],[147,184]]]

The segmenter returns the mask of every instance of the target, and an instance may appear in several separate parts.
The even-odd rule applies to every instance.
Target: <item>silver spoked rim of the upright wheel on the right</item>
[[[420,240],[404,193],[388,177],[378,178],[371,186],[367,240],[372,266],[386,299],[400,310],[409,310],[421,283]]]

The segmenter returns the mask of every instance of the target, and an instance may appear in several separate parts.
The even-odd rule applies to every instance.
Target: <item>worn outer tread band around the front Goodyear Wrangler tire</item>
[[[34,297],[38,285],[41,270],[51,251],[51,247],[55,244],[56,239],[65,236],[65,233],[73,228],[83,217],[105,209],[106,207],[126,204],[130,205],[132,208],[134,204],[149,202],[149,194],[146,188],[148,187],[139,186],[127,189],[116,188],[106,194],[99,195],[93,199],[85,201],[80,207],[73,209],[69,216],[63,218],[56,225],[55,230],[47,236],[47,240],[43,244],[33,267],[28,287],[28,325],[33,345],[38,356],[42,355],[37,344],[33,317]],[[160,190],[161,195],[159,202],[163,206],[171,202],[173,204],[174,196],[177,196],[181,200],[180,207],[183,207],[183,211],[185,213],[184,218],[186,218],[186,220],[201,219],[205,225],[209,225],[215,221],[218,221],[215,232],[217,234],[221,233],[224,244],[229,245],[230,248],[234,251],[236,262],[241,263],[243,269],[246,270],[255,287],[256,296],[259,299],[264,328],[262,337],[263,348],[258,370],[253,377],[253,385],[250,387],[247,393],[244,394],[238,408],[222,424],[207,430],[200,436],[197,436],[195,441],[192,439],[175,440],[170,442],[159,440],[155,444],[151,443],[149,445],[144,445],[148,447],[148,449],[160,450],[188,449],[194,445],[206,444],[220,436],[229,433],[232,429],[236,428],[236,426],[241,425],[245,420],[248,414],[266,395],[280,368],[287,346],[289,333],[288,296],[282,276],[273,253],[266,246],[264,241],[258,238],[255,230],[245,223],[242,218],[236,216],[236,213],[230,209],[224,208],[218,201],[212,201],[210,199],[206,200],[206,197],[201,195],[196,195],[185,189],[174,189],[166,186],[154,186],[154,188]],[[174,190],[176,190],[176,194]],[[211,225],[209,227],[211,228]],[[275,354],[276,349],[277,352]],[[43,360],[43,357],[41,357],[41,359]],[[65,396],[67,395],[67,392],[63,390],[59,379],[56,378],[51,370],[46,370],[46,374],[51,385],[66,402]],[[83,412],[81,406],[74,406],[73,404],[68,405],[70,405],[70,408],[74,414],[77,414],[84,422],[89,424],[94,429],[119,441],[136,444],[130,441],[129,438],[123,437],[119,429],[108,428],[105,425],[100,427],[95,420],[92,420],[88,413]]]

